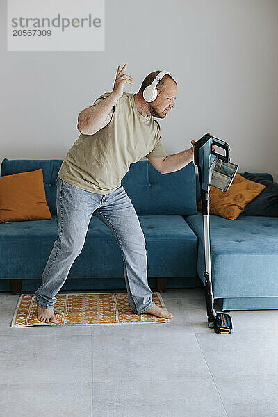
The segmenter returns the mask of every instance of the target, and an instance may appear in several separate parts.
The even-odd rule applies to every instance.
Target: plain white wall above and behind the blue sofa
[[[178,83],[176,108],[157,119],[168,154],[210,132],[229,143],[239,172],[278,181],[277,0],[106,0],[101,52],[7,52],[0,4],[0,162],[65,158],[78,113],[128,63],[126,92],[155,70]]]

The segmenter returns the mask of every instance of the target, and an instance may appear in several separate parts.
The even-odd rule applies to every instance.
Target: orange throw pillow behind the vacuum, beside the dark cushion
[[[228,191],[211,186],[209,191],[209,213],[220,215],[229,220],[236,220],[245,206],[252,201],[266,186],[250,181],[236,174]],[[198,211],[202,211],[202,200],[198,202]]]

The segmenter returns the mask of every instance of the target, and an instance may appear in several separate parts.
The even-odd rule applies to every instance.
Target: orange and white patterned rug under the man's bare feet
[[[37,318],[35,294],[20,295],[10,327],[127,325],[170,321],[169,318],[156,317],[152,314],[133,313],[127,293],[68,293],[57,294],[56,298],[57,302],[54,304],[56,323],[44,323]],[[152,300],[165,309],[160,293],[153,293]]]

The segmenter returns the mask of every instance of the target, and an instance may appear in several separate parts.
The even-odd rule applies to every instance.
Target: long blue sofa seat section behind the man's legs
[[[3,223],[0,228],[0,278],[40,278],[58,239],[52,220]],[[195,277],[197,237],[181,215],[139,216],[145,234],[149,277]],[[111,230],[92,215],[81,254],[70,278],[124,277],[122,252]]]

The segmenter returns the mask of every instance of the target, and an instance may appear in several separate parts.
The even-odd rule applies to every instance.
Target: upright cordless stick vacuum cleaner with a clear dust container
[[[225,154],[218,154],[212,149],[212,145],[224,149]],[[205,254],[205,294],[206,312],[208,315],[208,327],[215,333],[228,334],[233,332],[231,316],[225,313],[216,313],[214,309],[213,288],[211,279],[211,247],[209,239],[208,207],[209,190],[211,185],[227,191],[231,185],[238,165],[229,162],[230,148],[226,142],[206,134],[194,145],[194,163],[198,167],[201,187],[202,213],[204,221],[204,254]]]

